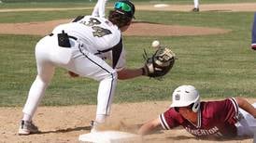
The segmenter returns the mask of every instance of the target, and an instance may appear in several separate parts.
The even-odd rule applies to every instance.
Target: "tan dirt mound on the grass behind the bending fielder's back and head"
[[[70,20],[51,20],[43,22],[29,23],[6,23],[0,24],[0,33],[9,34],[32,34],[46,35],[49,34],[53,27]],[[134,22],[124,35],[136,36],[172,36],[172,35],[203,35],[203,34],[220,34],[230,32],[218,28],[192,27],[179,25],[163,25],[149,22]]]

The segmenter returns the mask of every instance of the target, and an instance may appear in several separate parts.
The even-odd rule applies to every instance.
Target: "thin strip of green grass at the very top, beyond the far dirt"
[[[112,6],[116,0],[108,0],[107,6]],[[97,0],[2,0],[0,8],[35,8],[35,7],[93,7]],[[192,0],[133,0],[141,4],[179,4],[193,5]],[[255,3],[255,0],[204,0],[201,4]]]

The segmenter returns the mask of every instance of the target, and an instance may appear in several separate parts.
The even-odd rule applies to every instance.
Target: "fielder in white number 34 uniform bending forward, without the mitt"
[[[69,71],[71,76],[88,77],[100,82],[97,110],[93,128],[104,123],[118,79],[142,75],[142,68],[125,68],[125,50],[121,32],[128,29],[135,14],[135,6],[128,0],[119,0],[109,12],[108,20],[94,16],[79,16],[72,22],[54,28],[36,44],[37,76],[23,108],[19,135],[37,133],[32,123],[56,67]],[[108,65],[105,59],[112,60]]]

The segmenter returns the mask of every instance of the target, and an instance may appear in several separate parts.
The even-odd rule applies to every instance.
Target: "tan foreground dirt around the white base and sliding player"
[[[256,98],[249,99],[256,102]],[[112,106],[110,128],[135,133],[141,123],[156,118],[158,114],[169,107],[170,101],[156,101],[130,104],[114,104]],[[18,136],[18,123],[21,119],[21,108],[0,108],[0,142],[40,142],[40,143],[74,143],[78,136],[90,132],[89,123],[94,119],[96,106],[70,106],[70,107],[39,107],[34,122],[38,125],[41,134],[31,136]],[[125,125],[121,126],[121,122]],[[118,128],[117,128],[118,126]],[[243,139],[243,140],[241,140]],[[160,131],[145,136],[145,143],[164,142],[190,142],[205,143],[216,140],[200,140],[185,130],[179,128],[171,131]],[[222,140],[227,143],[251,143],[252,139],[234,138]]]

